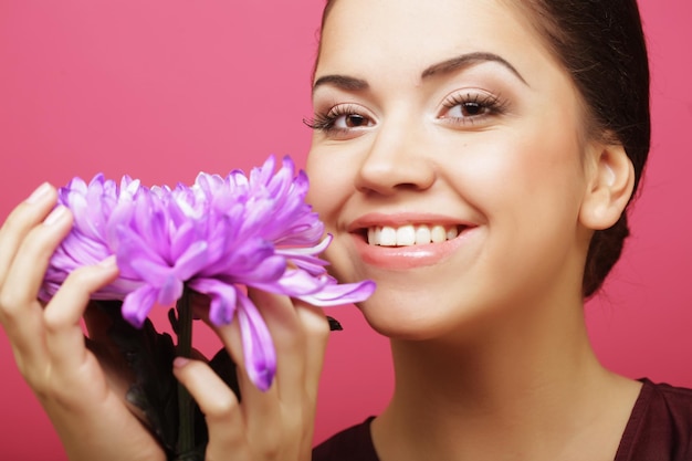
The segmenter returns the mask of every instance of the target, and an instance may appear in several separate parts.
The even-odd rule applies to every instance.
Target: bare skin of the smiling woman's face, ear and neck
[[[612,460],[640,384],[596,359],[580,289],[631,195],[622,147],[585,136],[568,74],[507,2],[342,0],[321,46],[311,200],[334,274],[378,284],[359,307],[391,338],[380,458]],[[365,243],[406,223],[465,230]]]

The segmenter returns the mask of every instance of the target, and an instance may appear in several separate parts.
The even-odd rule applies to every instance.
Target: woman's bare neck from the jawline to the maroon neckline
[[[580,300],[527,318],[536,311],[517,308],[474,336],[392,339],[395,394],[373,429],[382,460],[566,460],[570,443],[583,457],[586,432],[614,426],[600,449],[615,457],[638,387],[598,363]],[[411,441],[409,449],[395,454],[392,439]]]

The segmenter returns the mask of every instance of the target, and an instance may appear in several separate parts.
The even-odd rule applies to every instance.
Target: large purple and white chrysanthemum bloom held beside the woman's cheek
[[[217,325],[238,318],[244,362],[260,389],[271,386],[276,354],[247,287],[285,294],[317,306],[367,298],[375,285],[338,284],[318,254],[331,238],[305,203],[308,181],[290,158],[270,157],[250,176],[200,174],[195,185],[147,188],[128,177],[118,185],[97,175],[75,178],[59,193],[74,214],[41,290],[50,298],[74,269],[115,254],[120,274],[94,293],[123,300],[123,316],[141,326],[155,304],[175,303],[187,285],[211,298]]]

